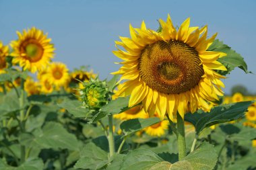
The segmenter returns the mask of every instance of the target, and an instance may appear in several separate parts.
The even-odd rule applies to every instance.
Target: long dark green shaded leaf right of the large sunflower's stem
[[[252,103],[253,101],[242,101],[219,105],[213,108],[210,113],[203,112],[202,114],[198,114],[196,112],[195,114],[185,114],[185,120],[195,126],[195,133],[199,135],[204,128],[243,117],[247,108]]]

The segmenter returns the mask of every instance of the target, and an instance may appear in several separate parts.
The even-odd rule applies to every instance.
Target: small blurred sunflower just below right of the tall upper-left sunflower
[[[49,83],[55,85],[57,88],[65,87],[70,80],[68,71],[66,65],[63,63],[52,62],[44,76],[49,79]]]

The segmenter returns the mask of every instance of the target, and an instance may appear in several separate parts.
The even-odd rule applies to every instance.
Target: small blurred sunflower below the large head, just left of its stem
[[[155,114],[155,116],[158,117],[158,114]],[[162,120],[161,122],[158,122],[146,128],[145,132],[150,136],[160,137],[165,134],[166,130],[168,130],[168,120]]]

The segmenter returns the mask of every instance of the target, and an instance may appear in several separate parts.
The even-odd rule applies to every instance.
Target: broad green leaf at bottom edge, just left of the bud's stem
[[[108,164],[108,154],[90,142],[82,149],[75,168],[100,169]]]

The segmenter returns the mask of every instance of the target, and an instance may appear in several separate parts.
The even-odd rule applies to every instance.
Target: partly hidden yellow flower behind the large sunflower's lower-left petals
[[[115,114],[114,118],[117,118],[120,120],[129,120],[129,119],[135,119],[135,118],[148,118],[148,115],[143,110],[143,108],[141,108],[141,105],[136,105],[133,108],[126,110],[121,114]]]

